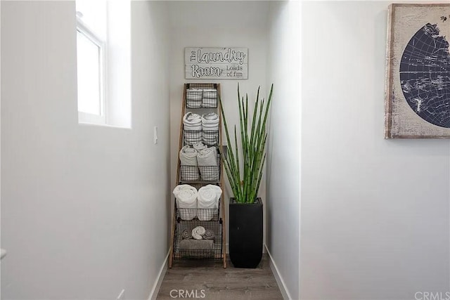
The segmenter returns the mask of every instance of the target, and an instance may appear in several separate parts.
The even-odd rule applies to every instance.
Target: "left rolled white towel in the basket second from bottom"
[[[176,198],[176,208],[179,210],[181,219],[194,219],[197,216],[197,189],[188,184],[181,184],[176,185],[173,193]]]

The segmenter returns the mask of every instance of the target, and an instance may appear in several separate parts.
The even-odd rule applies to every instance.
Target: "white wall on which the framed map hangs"
[[[449,291],[449,141],[384,140],[388,1],[302,7],[302,299]]]

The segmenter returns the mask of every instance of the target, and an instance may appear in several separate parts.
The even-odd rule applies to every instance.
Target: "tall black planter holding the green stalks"
[[[235,268],[256,268],[262,259],[262,201],[229,204],[230,260]]]

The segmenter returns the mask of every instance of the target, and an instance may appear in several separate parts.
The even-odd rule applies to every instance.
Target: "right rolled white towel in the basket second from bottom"
[[[217,185],[205,185],[198,190],[197,217],[200,221],[210,221],[219,209],[222,190]]]

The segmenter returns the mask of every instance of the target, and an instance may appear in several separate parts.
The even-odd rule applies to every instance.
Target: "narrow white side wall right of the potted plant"
[[[273,1],[268,83],[274,83],[267,161],[266,245],[290,299],[299,299],[300,3]]]

